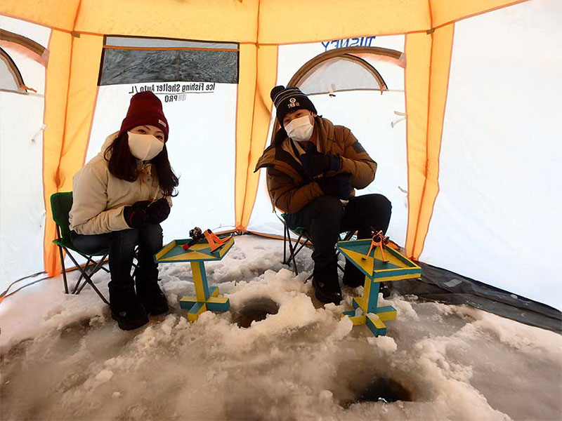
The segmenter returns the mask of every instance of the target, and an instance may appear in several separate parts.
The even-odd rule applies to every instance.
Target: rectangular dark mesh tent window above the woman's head
[[[238,44],[107,36],[99,85],[238,83]]]

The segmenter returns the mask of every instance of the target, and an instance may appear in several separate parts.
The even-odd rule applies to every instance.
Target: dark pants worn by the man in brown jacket
[[[327,267],[336,261],[334,246],[339,233],[358,230],[358,239],[368,239],[371,229],[386,233],[391,220],[391,202],[382,194],[365,194],[349,199],[344,206],[334,196],[322,196],[296,213],[285,215],[291,229],[303,227],[314,245],[314,266]]]

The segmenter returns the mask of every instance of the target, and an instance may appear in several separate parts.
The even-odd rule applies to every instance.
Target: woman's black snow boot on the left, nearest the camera
[[[115,286],[110,282],[110,307],[112,319],[122,330],[133,330],[148,323],[145,307],[141,305],[132,285]]]

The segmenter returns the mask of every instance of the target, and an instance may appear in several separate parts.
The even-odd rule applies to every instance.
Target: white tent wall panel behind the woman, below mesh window
[[[100,86],[86,161],[100,152],[107,135],[119,130],[131,90],[164,84]],[[236,91],[233,83],[215,83],[212,95],[193,91],[179,95],[181,100],[156,92],[173,133],[166,144],[169,159],[180,177],[174,212],[162,224],[164,241],[187,237],[195,225],[218,231],[235,228]],[[195,95],[197,100],[192,100]]]

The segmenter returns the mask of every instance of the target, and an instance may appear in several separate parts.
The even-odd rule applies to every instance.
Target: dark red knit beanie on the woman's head
[[[162,102],[150,91],[133,95],[119,135],[136,126],[155,126],[164,132],[164,142],[168,140],[168,120],[162,111]]]

